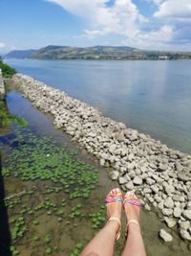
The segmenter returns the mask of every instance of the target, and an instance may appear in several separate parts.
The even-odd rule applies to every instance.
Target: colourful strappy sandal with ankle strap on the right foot
[[[130,204],[138,206],[139,210],[141,208],[141,202],[138,200],[137,197],[135,197],[134,191],[130,191],[125,194],[124,199],[123,199],[123,207],[126,203],[130,203]],[[130,223],[135,223],[139,226],[139,223],[137,220],[134,220],[134,219],[129,220],[126,224],[126,237],[127,237],[127,233],[128,233],[128,226]]]

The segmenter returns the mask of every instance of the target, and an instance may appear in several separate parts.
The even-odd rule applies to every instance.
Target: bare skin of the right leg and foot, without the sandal
[[[138,198],[133,194],[131,197],[132,199],[138,200]],[[135,220],[139,223],[139,207],[131,203],[125,203],[124,208],[127,223],[130,220]],[[139,225],[135,222],[130,222],[127,228],[127,242],[122,256],[146,256]]]

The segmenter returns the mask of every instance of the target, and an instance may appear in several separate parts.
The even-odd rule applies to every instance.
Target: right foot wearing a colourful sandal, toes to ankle
[[[141,203],[133,191],[125,194],[123,205],[127,219],[127,231],[132,226],[139,228],[139,212]]]

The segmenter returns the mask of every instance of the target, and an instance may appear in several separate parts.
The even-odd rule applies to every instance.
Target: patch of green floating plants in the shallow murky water
[[[94,235],[105,221],[104,207],[98,212],[91,207],[92,192],[98,184],[96,168],[81,161],[75,150],[67,150],[52,138],[38,137],[30,128],[15,126],[14,131],[13,137],[0,142],[2,154],[10,147],[2,159],[7,190],[10,186],[13,193],[12,184],[18,182],[22,191],[22,195],[6,200],[12,255],[22,253],[22,244],[41,255],[61,255],[63,251],[79,255],[85,239],[79,243],[75,238],[67,248],[58,242],[65,234],[70,237],[73,230],[77,234],[87,226]]]

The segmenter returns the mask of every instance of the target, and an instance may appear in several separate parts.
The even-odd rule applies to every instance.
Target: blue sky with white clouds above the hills
[[[47,45],[191,51],[191,0],[0,0],[0,54]]]

